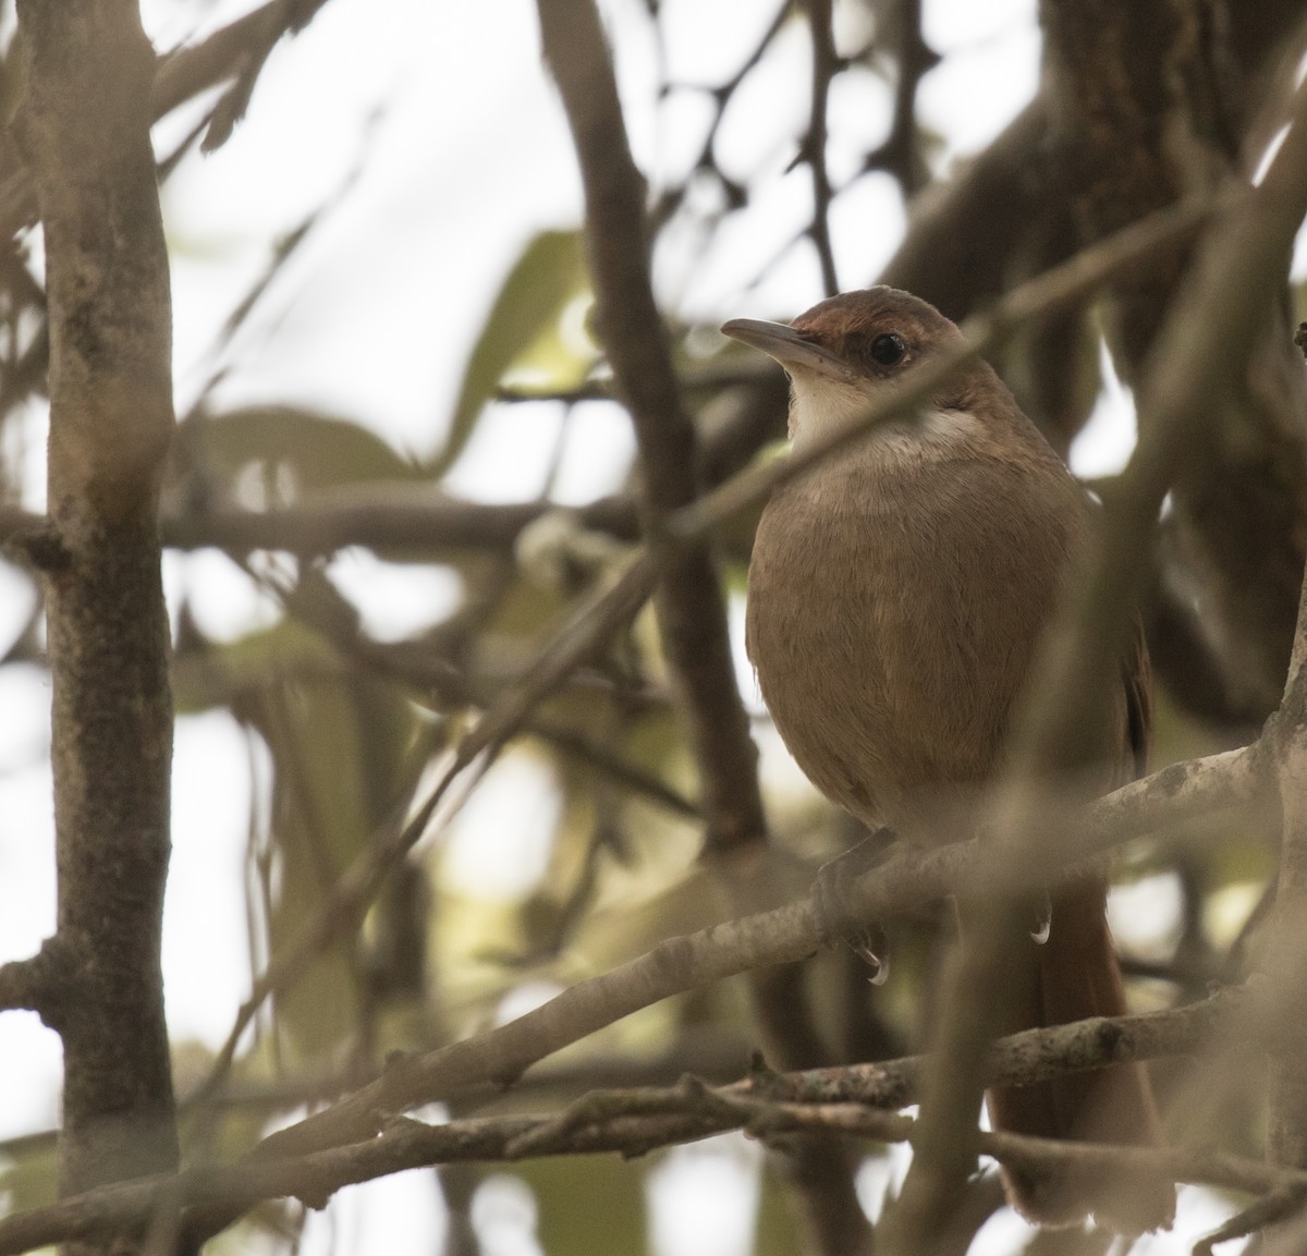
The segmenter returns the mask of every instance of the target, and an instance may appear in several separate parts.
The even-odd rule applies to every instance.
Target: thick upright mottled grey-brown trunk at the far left
[[[44,226],[46,580],[58,945],[72,988],[60,1189],[176,1163],[159,934],[173,704],[158,484],[171,439],[167,254],[149,137],[154,54],[129,0],[20,0],[16,120]]]

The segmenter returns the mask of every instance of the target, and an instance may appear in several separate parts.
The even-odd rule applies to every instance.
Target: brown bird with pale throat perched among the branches
[[[735,319],[723,332],[786,369],[796,450],[962,340],[933,306],[891,288],[823,301],[792,327]],[[1093,511],[979,359],[916,416],[772,494],[749,567],[749,657],[780,736],[823,793],[908,840],[967,835],[958,817],[1001,763]],[[1100,789],[1142,771],[1150,711],[1138,634],[1107,687],[1093,755]],[[996,976],[1004,1033],[1127,1010],[1106,897],[1097,877],[1053,891],[1047,941],[1027,941],[1019,970]],[[993,1090],[987,1102],[995,1127],[1013,1132],[1161,1140],[1140,1065]],[[1005,1179],[1013,1204],[1044,1225],[1094,1213],[1137,1232],[1170,1223],[1175,1209],[1170,1185],[1123,1192],[1084,1176]]]

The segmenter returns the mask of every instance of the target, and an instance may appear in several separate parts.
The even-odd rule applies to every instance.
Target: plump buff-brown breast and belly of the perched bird
[[[1064,469],[884,442],[772,497],[748,648],[818,788],[911,833],[992,772],[1081,508]]]

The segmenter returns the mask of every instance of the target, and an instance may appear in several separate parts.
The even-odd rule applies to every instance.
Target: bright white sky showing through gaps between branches
[[[205,29],[250,7],[213,3]],[[146,0],[146,25],[158,48],[192,34],[193,8]],[[945,165],[983,148],[1033,94],[1039,59],[1034,8],[1034,0],[927,0],[927,38],[950,55],[923,82],[920,115],[945,136]],[[668,63],[676,81],[686,84],[725,77],[772,12],[750,0],[664,0],[663,9]],[[657,65],[643,5],[610,0],[604,10],[616,38],[633,146],[656,187],[695,153],[708,116],[706,99],[678,93],[656,107]],[[806,244],[748,288],[808,218],[806,173],[782,176],[793,153],[786,137],[805,122],[806,89],[796,85],[806,85],[806,59],[801,31],[791,29],[723,127],[723,165],[762,188],[749,213],[721,231],[706,260],[689,264],[669,250],[659,256],[661,295],[682,315],[707,323],[733,315],[789,318],[821,297]],[[840,81],[831,102],[836,184],[851,173],[855,142],[868,137],[868,128],[884,128],[887,110],[889,93],[870,76]],[[161,153],[195,116],[183,110],[161,124]],[[303,256],[278,277],[260,316],[216,359],[216,333],[263,268],[272,242],[348,179],[348,193]],[[505,271],[540,227],[570,227],[580,216],[575,159],[541,67],[533,5],[331,0],[303,34],[273,52],[250,116],[226,148],[190,158],[174,176],[163,209],[173,250],[179,412],[216,369],[231,366],[218,388],[221,403],[320,405],[375,426],[400,448],[429,451]],[[874,277],[903,221],[887,176],[864,179],[835,201],[842,286]],[[493,501],[533,495],[558,422],[549,406],[489,414],[451,486]],[[26,450],[31,506],[43,501],[38,423],[34,416]],[[612,406],[580,408],[574,429],[558,495],[580,502],[617,486],[633,442]],[[1129,399],[1117,389],[1077,443],[1076,469],[1116,469],[1132,433]],[[400,636],[430,623],[454,596],[450,578],[435,570],[389,567],[359,554],[342,555],[332,570],[348,593],[363,597],[366,623],[378,635]],[[217,635],[240,635],[269,614],[246,578],[217,553],[170,554],[166,580],[174,606],[186,589],[203,627]],[[24,582],[0,565],[0,643],[25,621],[26,597]],[[0,962],[30,954],[54,927],[48,701],[35,669],[0,670]],[[767,753],[776,753],[775,746]],[[179,721],[165,920],[167,1009],[174,1038],[212,1047],[225,1036],[248,983],[242,868],[256,788],[248,763],[246,737],[227,716]],[[450,838],[450,876],[489,886],[488,893],[524,894],[532,870],[538,876],[544,868],[554,805],[548,780],[510,755],[488,785],[494,788],[476,796]],[[518,870],[516,884],[493,882],[503,868]],[[1145,885],[1142,893],[1155,895],[1150,911],[1165,931],[1175,919],[1174,886]],[[56,1123],[58,1051],[58,1039],[34,1016],[0,1016],[7,1065],[0,1137]],[[902,1155],[894,1163],[901,1174]],[[884,1182],[863,1185],[870,1201]],[[742,1140],[673,1151],[652,1179],[652,1256],[742,1256],[755,1191],[757,1150]],[[1229,1212],[1200,1192],[1185,1196],[1176,1230],[1136,1251],[1188,1252]],[[511,1172],[486,1184],[477,1208],[488,1256],[538,1251],[531,1236],[533,1202]],[[429,1256],[442,1225],[431,1176],[403,1175],[341,1192],[328,1215],[310,1221],[303,1249],[324,1252],[335,1236],[341,1253]],[[1010,1215],[996,1218],[975,1251],[1010,1251],[1019,1229]]]

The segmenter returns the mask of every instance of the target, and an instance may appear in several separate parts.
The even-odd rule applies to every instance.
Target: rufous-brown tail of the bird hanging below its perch
[[[1121,970],[1107,928],[1107,885],[1086,878],[1052,895],[1048,938],[1029,942],[1005,992],[1004,1033],[1127,1012]],[[967,908],[961,908],[966,915]],[[1005,983],[1006,984],[1006,983]],[[1142,1064],[1073,1073],[987,1095],[995,1129],[1044,1138],[1158,1146],[1162,1132]],[[1044,1174],[1004,1168],[1013,1206],[1030,1221],[1078,1225],[1086,1214],[1138,1234],[1168,1226],[1175,1188],[1142,1175],[1074,1170]]]

